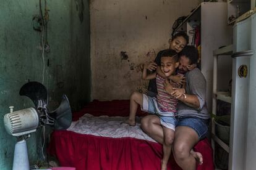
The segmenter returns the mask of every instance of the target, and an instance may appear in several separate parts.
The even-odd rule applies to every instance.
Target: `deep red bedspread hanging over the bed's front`
[[[127,116],[129,114],[128,100],[111,102],[91,102],[83,110],[74,113],[77,120],[85,113],[95,116],[109,115]],[[140,115],[145,113],[140,112]],[[207,139],[198,142],[194,148],[202,153],[203,164],[197,169],[212,170],[213,156]],[[134,138],[114,139],[72,131],[54,131],[49,144],[49,153],[56,155],[61,166],[75,167],[77,170],[127,169],[127,170],[157,170],[160,168],[162,147],[155,142]],[[171,156],[168,169],[181,169]]]

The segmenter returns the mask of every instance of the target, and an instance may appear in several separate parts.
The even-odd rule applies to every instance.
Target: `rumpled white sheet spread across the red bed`
[[[67,130],[93,136],[113,138],[134,137],[136,139],[156,142],[142,131],[139,118],[137,118],[136,126],[122,123],[126,119],[127,117],[122,116],[93,116],[87,113],[80,117],[78,121],[72,122]]]

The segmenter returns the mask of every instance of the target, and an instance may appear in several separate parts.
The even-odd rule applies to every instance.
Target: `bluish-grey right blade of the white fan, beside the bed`
[[[72,121],[72,112],[69,100],[65,94],[62,96],[62,101],[59,107],[56,110],[49,112],[49,115],[55,119],[54,129],[62,130],[69,128]]]

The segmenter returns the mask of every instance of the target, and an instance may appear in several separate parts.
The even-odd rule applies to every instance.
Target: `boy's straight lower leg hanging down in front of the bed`
[[[169,157],[171,155],[171,147],[174,140],[174,131],[163,126],[164,142],[163,142],[163,160],[161,160],[161,170],[167,169]]]

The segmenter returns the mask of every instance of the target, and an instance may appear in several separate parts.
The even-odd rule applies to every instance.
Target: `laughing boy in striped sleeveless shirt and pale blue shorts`
[[[176,73],[179,67],[179,57],[177,52],[172,49],[164,50],[161,53],[161,67],[156,67],[155,63],[144,66],[142,79],[156,78],[158,94],[150,97],[139,92],[133,92],[130,96],[130,115],[126,121],[130,126],[135,126],[135,115],[138,105],[143,111],[156,114],[160,118],[161,127],[163,128],[163,159],[161,160],[161,169],[167,169],[167,163],[171,154],[171,147],[174,140],[174,131],[176,126],[175,114],[177,112],[178,100],[164,89],[164,83]],[[148,70],[155,70],[155,73],[147,74]],[[177,88],[179,84],[171,82],[171,86]]]

